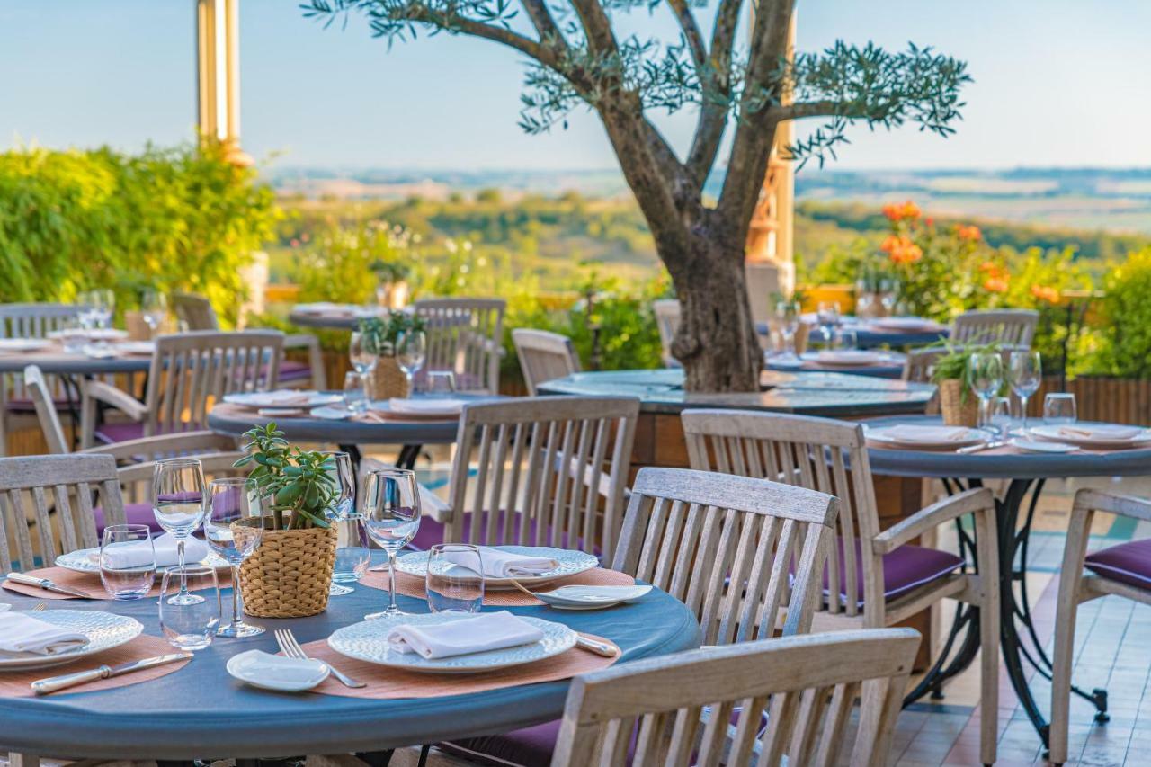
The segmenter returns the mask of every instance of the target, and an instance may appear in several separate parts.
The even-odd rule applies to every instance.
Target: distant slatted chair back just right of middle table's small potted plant
[[[413,304],[427,332],[424,370],[456,374],[462,392],[500,392],[503,351],[502,298],[425,298]]]

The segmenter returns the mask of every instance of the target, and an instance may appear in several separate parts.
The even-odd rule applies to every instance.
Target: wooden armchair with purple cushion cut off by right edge
[[[1050,760],[1067,761],[1070,719],[1072,665],[1078,606],[1108,594],[1151,605],[1151,539],[1119,544],[1087,553],[1091,522],[1097,511],[1151,523],[1151,501],[1096,489],[1075,493],[1064,546],[1055,608],[1055,646],[1051,677]],[[1084,572],[1084,569],[1088,572]]]

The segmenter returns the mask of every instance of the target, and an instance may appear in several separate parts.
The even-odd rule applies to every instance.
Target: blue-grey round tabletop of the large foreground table
[[[379,554],[376,559],[382,562]],[[403,610],[428,612],[421,599],[399,595],[397,600]],[[16,609],[30,609],[36,601],[0,591],[0,603]],[[563,714],[569,679],[460,696],[372,700],[258,690],[234,679],[224,669],[228,659],[237,653],[276,652],[273,629],[290,629],[300,644],[306,644],[361,621],[386,603],[386,591],[357,585],[351,594],[333,597],[327,610],[313,617],[251,618],[267,632],[247,639],[216,638],[188,666],[167,676],[96,692],[0,697],[0,751],[173,760],[386,751],[503,732]],[[127,615],[143,623],[145,633],[162,636],[155,599],[58,600],[48,607],[64,608]],[[607,637],[623,651],[619,663],[691,650],[701,641],[694,614],[657,588],[633,605],[605,610],[569,612],[544,606],[502,609]],[[44,675],[52,676],[52,669]],[[437,677],[440,682],[443,678]]]

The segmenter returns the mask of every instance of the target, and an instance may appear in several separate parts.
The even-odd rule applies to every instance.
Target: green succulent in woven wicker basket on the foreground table
[[[300,450],[274,423],[244,434],[247,453],[236,468],[251,466],[264,518],[238,522],[237,537],[254,534],[260,545],[241,567],[244,612],[257,617],[304,617],[323,612],[336,563],[336,529],[328,510],[340,500],[331,456]]]

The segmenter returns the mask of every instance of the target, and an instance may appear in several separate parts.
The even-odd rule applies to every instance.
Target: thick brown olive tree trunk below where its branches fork
[[[693,237],[695,252],[672,259],[679,329],[671,354],[688,392],[759,392],[763,355],[752,324],[742,246]],[[669,259],[664,259],[669,263]]]

